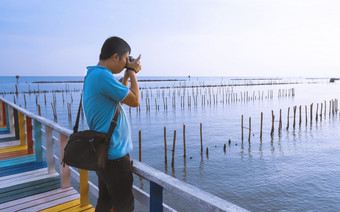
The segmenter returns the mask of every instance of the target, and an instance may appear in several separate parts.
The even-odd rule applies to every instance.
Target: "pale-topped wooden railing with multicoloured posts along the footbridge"
[[[61,188],[71,186],[70,176],[72,176],[72,178],[80,183],[81,206],[89,204],[89,192],[98,197],[98,187],[89,182],[87,170],[79,169],[79,172],[77,172],[72,167],[60,165],[60,158],[63,158],[68,136],[72,134],[71,130],[66,129],[42,116],[33,114],[2,97],[0,97],[0,104],[0,120],[5,120],[6,118],[3,116],[4,114],[7,114],[7,119],[9,119],[8,124],[10,125],[8,126],[8,129],[11,133],[15,133],[16,135],[20,133],[21,143],[27,142],[28,148],[33,148],[33,146],[29,143],[34,141],[34,150],[37,161],[42,160],[42,150],[44,149],[46,151],[49,173],[56,172],[55,161],[58,161],[56,164],[60,168]],[[27,141],[25,141],[24,116],[26,117]],[[32,126],[30,124],[31,120],[33,120],[33,128],[30,127]],[[42,129],[42,126],[44,126],[45,129]],[[34,131],[33,138],[32,132],[29,132],[29,130],[32,129]],[[42,146],[42,131],[45,131],[46,147]],[[59,138],[53,137],[53,131],[59,133]],[[53,154],[54,142],[59,143],[59,156]],[[133,187],[135,198],[142,204],[149,207],[150,211],[175,211],[163,203],[163,189],[181,197],[183,200],[186,200],[186,202],[191,204],[193,208],[200,211],[247,211],[233,203],[166,175],[165,173],[136,160],[133,161],[133,172],[134,174],[150,181],[150,194],[136,186]]]

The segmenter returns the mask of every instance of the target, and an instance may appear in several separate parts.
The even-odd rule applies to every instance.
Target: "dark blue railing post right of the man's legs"
[[[150,212],[163,211],[163,187],[150,181]]]

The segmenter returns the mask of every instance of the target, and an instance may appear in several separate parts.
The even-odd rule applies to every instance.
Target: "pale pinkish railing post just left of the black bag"
[[[62,162],[64,158],[64,149],[67,144],[67,136],[59,133],[59,160]],[[65,165],[60,166],[61,175],[61,188],[68,188],[71,186],[70,183],[70,167]]]

